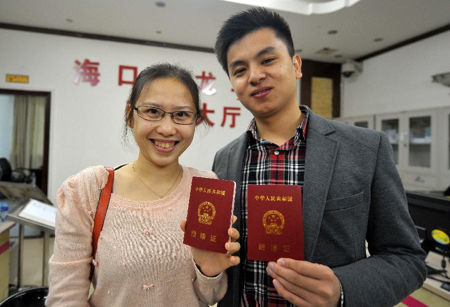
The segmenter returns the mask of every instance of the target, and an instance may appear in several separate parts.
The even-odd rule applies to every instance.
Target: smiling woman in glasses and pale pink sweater
[[[216,178],[178,162],[201,120],[198,95],[182,67],[164,62],[139,73],[124,116],[124,136],[132,133],[139,153],[114,170],[94,259],[93,216],[108,172],[86,168],[58,191],[47,306],[207,306],[222,298],[224,270],[239,263],[231,256],[239,244],[223,242],[228,254],[182,244],[192,176]],[[234,241],[239,233],[229,228],[228,235]],[[88,298],[90,263],[95,290]]]

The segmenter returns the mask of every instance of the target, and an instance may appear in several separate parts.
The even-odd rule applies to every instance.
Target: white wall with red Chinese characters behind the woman
[[[0,88],[51,92],[49,185],[54,195],[69,175],[89,165],[132,161],[134,150],[121,146],[123,110],[130,85],[118,85],[118,66],[145,66],[169,60],[185,64],[195,74],[212,72],[217,93],[203,96],[215,125],[205,134],[198,128],[180,162],[210,169],[217,149],[245,131],[251,114],[231,92],[228,77],[213,53],[0,29]],[[96,86],[72,80],[74,61],[98,61]],[[6,73],[29,75],[29,84],[6,83]],[[241,107],[234,128],[220,126],[223,106]],[[199,133],[200,132],[200,133]]]

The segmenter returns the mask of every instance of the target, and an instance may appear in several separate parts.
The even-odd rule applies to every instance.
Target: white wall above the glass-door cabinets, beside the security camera
[[[341,117],[450,105],[450,87],[431,75],[450,71],[450,31],[363,61],[361,74],[342,78]]]

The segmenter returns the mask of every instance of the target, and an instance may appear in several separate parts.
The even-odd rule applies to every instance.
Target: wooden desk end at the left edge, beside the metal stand
[[[13,221],[0,222],[0,300],[9,294],[9,229],[14,225]]]

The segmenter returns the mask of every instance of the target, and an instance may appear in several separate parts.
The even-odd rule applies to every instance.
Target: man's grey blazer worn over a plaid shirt
[[[306,133],[305,260],[333,269],[346,307],[395,305],[423,284],[426,268],[387,135],[311,110]],[[247,140],[244,133],[220,149],[212,166],[219,178],[236,182],[236,229]],[[237,255],[244,256],[245,248]],[[218,306],[237,307],[242,293],[239,266],[227,272],[228,290]]]

